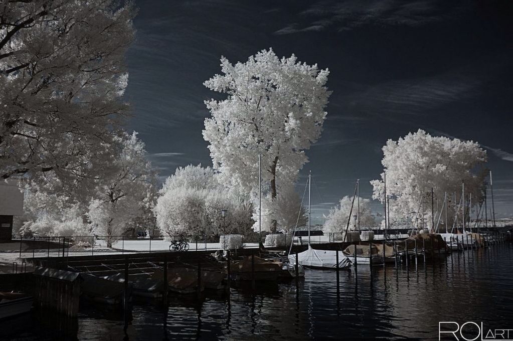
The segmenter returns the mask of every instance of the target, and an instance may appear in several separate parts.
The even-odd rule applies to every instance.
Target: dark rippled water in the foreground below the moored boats
[[[415,263],[409,271],[405,264],[398,271],[393,265],[386,271],[374,267],[372,274],[360,266],[358,281],[354,271],[343,271],[339,295],[335,272],[307,270],[305,277],[299,291],[295,282],[257,284],[255,291],[234,287],[229,300],[222,294],[200,301],[171,297],[168,309],[157,303],[134,304],[131,316],[84,305],[73,320],[26,315],[0,322],[0,339],[438,340],[439,322],[482,322],[486,330],[513,329],[511,243],[428,260],[425,270],[419,258],[418,271]],[[125,324],[124,319],[130,322]],[[475,325],[464,329],[467,339],[479,335]],[[449,336],[446,339],[456,339]],[[513,339],[513,330],[509,338]]]

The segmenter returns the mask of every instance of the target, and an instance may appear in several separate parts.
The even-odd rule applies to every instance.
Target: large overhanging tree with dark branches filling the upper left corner
[[[91,168],[126,114],[133,5],[0,1],[0,177]]]

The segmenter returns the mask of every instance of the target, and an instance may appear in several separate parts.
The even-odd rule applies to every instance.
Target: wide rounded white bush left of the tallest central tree
[[[227,210],[224,219],[221,210]],[[165,235],[244,234],[253,224],[249,198],[201,165],[177,168],[160,190],[154,212]]]

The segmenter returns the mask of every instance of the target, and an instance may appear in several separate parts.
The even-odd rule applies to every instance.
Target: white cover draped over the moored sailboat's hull
[[[308,250],[298,253],[298,263],[310,268],[335,269],[337,268],[337,252],[339,253],[339,268],[346,269],[351,266],[351,260],[342,251],[315,250],[308,246]],[[295,253],[289,254],[289,262],[295,265]]]

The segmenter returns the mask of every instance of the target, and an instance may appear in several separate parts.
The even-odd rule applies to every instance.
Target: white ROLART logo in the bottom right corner
[[[513,341],[513,329],[487,328],[482,322],[481,324],[465,322],[460,325],[458,322],[446,321],[438,323],[438,339],[457,341]]]

